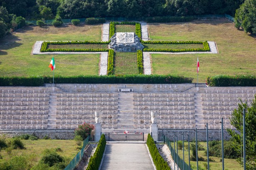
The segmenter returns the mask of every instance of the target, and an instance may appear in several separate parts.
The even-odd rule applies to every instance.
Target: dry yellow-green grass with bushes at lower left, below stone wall
[[[53,149],[60,148],[62,151],[57,152],[61,156],[63,156],[66,160],[72,160],[75,155],[80,151],[78,148],[76,141],[74,140],[44,140],[39,139],[37,141],[31,140],[21,140],[26,149],[12,149],[11,154],[8,155],[5,150],[0,151],[0,155],[2,155],[2,159],[0,159],[0,163],[9,160],[12,156],[25,156],[29,162],[29,166],[32,167],[38,163],[43,155],[43,151],[45,149]]]

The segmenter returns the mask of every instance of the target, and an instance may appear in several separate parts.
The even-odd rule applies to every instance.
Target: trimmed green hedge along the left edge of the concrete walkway
[[[102,160],[105,147],[106,147],[106,139],[105,139],[105,135],[102,134],[99,140],[99,144],[96,148],[96,151],[94,152],[93,156],[89,160],[88,167],[86,168],[87,170],[99,169],[99,165]]]

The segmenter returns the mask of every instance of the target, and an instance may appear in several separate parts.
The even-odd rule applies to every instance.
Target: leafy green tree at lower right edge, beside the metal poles
[[[233,125],[239,133],[227,129],[231,135],[231,141],[235,151],[241,155],[243,150],[241,146],[243,145],[243,109],[246,110],[245,116],[245,132],[246,132],[246,170],[252,170],[256,168],[256,95],[254,96],[251,105],[247,102],[238,105],[238,109],[235,109],[230,118],[230,123]],[[237,159],[241,164],[241,159]]]

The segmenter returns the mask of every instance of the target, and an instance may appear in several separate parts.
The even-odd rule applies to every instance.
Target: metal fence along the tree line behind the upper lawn
[[[205,18],[205,19],[208,19],[208,18],[227,18],[231,21],[234,22],[234,18],[231,17],[230,15],[194,15],[192,17],[195,17],[195,18]],[[142,21],[142,20],[145,20],[146,17],[105,17],[106,21]],[[86,18],[78,18],[80,20],[80,22],[85,22]],[[65,24],[71,24],[71,20],[72,19],[62,19],[63,23]],[[51,20],[45,20],[45,24],[47,25],[50,25],[52,24],[52,21],[53,19]],[[37,24],[37,20],[32,20],[32,21],[26,21],[27,23],[31,23],[31,24],[34,24],[36,25]]]

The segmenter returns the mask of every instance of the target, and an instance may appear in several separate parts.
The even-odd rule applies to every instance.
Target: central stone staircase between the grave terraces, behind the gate
[[[119,93],[117,114],[117,129],[134,129],[133,93]]]

